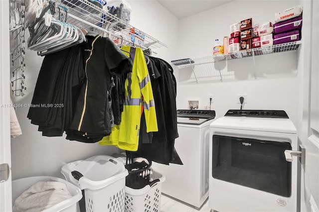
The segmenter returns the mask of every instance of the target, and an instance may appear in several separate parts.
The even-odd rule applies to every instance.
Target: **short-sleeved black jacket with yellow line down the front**
[[[97,142],[111,133],[109,88],[112,75],[127,71],[129,59],[108,37],[86,34],[83,45],[86,80],[66,139]]]

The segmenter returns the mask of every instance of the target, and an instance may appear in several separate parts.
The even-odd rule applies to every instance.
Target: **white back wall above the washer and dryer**
[[[216,38],[230,36],[229,26],[246,18],[253,23],[274,22],[275,13],[300,4],[287,0],[236,0],[180,20],[178,57],[199,58],[212,55]],[[283,109],[292,121],[298,122],[298,56],[302,52],[285,52],[197,66],[195,75],[190,68],[180,69],[177,108],[187,108],[188,100],[199,100],[199,109],[214,95],[212,109],[223,116],[228,109],[239,109],[237,95],[247,95],[244,109]],[[176,68],[176,70],[178,70]],[[257,79],[255,79],[255,76]]]

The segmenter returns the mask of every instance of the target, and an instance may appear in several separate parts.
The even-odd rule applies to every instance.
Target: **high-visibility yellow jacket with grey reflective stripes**
[[[158,131],[155,103],[142,49],[132,46],[123,46],[121,49],[133,61],[132,72],[125,81],[125,103],[121,123],[113,126],[111,135],[105,136],[99,144],[116,145],[124,150],[137,151],[142,108],[147,132]]]

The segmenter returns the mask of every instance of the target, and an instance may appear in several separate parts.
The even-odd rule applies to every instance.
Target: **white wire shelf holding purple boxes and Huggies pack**
[[[206,57],[193,58],[193,59],[188,58],[188,59],[182,59],[182,60],[174,60],[174,61],[171,61],[171,63],[177,66],[178,68],[185,68],[189,66],[215,63],[222,60],[232,60],[237,58],[253,57],[257,55],[293,51],[293,50],[297,50],[301,43],[302,42],[299,40],[295,42],[283,43],[283,44],[273,45],[269,47],[243,50],[243,51],[230,53],[230,54],[213,55],[213,56],[206,56]]]

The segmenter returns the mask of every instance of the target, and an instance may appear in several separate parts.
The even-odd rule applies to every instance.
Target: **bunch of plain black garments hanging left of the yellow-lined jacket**
[[[80,44],[44,57],[27,114],[42,135],[62,136],[70,127],[83,80]]]

